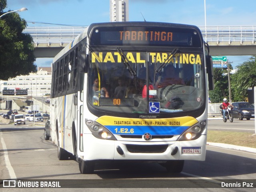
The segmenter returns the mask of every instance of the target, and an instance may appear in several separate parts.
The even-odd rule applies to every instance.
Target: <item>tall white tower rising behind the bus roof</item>
[[[110,0],[110,22],[128,22],[128,0]]]

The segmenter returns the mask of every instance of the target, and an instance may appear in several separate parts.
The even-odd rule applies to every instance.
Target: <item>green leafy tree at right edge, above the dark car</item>
[[[248,87],[256,86],[256,55],[237,66],[231,85],[234,101],[244,101],[248,96]]]

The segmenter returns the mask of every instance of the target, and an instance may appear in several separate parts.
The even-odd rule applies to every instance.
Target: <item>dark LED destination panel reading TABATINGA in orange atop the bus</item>
[[[202,42],[193,28],[119,26],[94,29],[90,45],[202,47]]]

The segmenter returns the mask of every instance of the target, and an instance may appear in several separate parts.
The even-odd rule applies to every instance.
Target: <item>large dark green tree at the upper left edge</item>
[[[7,0],[0,0],[0,15],[6,4]],[[22,33],[26,26],[16,12],[0,18],[0,80],[36,72],[33,39]]]

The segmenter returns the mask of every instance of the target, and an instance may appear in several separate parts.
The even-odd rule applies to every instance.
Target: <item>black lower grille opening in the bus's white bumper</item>
[[[164,153],[167,147],[168,145],[126,145],[130,153]]]

